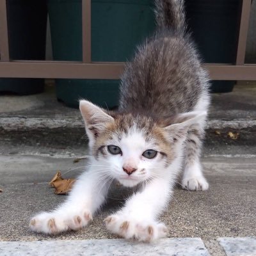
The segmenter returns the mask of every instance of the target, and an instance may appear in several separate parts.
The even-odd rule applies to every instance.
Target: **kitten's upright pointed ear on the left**
[[[80,100],[79,108],[84,118],[86,133],[92,143],[99,136],[100,131],[104,130],[106,124],[113,122],[114,118],[87,100]]]

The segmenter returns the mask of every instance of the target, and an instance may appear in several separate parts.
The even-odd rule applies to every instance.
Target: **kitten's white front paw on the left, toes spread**
[[[38,233],[58,234],[67,230],[78,230],[92,220],[92,214],[84,211],[81,214],[67,215],[42,212],[29,222],[29,228]]]

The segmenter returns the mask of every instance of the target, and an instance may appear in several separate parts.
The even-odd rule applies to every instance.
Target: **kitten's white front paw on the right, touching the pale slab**
[[[167,228],[156,221],[136,221],[118,214],[108,216],[104,222],[113,234],[126,239],[150,242],[167,235]]]

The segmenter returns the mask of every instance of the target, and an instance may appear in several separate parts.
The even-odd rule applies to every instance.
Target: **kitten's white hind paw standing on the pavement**
[[[191,191],[204,191],[209,188],[209,184],[204,176],[188,177],[182,180],[182,188]]]

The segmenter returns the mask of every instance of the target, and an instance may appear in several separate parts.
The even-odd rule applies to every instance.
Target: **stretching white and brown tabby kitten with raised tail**
[[[80,101],[89,170],[64,204],[32,218],[31,230],[57,234],[85,227],[118,180],[140,189],[104,220],[106,227],[127,239],[152,241],[167,234],[157,218],[181,169],[184,189],[208,188],[199,159],[209,105],[207,73],[186,35],[184,1],[155,2],[157,31],[125,67],[118,111]]]

